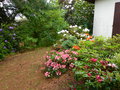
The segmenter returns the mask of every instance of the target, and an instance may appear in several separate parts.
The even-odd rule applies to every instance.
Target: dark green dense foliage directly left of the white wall
[[[92,32],[94,5],[84,0],[76,0],[73,3],[74,5],[71,3],[65,5],[68,10],[65,17],[66,21],[71,25],[87,27]]]

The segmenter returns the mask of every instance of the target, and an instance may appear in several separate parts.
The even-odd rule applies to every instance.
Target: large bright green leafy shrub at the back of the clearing
[[[36,5],[33,7],[32,1],[25,4],[23,14],[27,17],[27,21],[22,22],[18,27],[19,36],[25,47],[30,45],[29,47],[32,48],[33,45],[29,42],[34,43],[34,46],[52,45],[59,39],[57,32],[68,25],[63,18],[64,10],[61,10],[56,3],[42,5],[42,1],[33,1]]]

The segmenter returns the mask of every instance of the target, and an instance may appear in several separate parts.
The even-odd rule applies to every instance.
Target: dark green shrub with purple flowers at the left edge
[[[15,27],[16,24],[12,24],[4,25],[0,28],[0,59],[6,54],[15,52],[19,47],[19,40]]]

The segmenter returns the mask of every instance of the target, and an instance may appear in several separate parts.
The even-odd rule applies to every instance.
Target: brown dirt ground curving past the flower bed
[[[60,78],[46,79],[40,70],[49,48],[8,56],[0,62],[0,90],[69,90],[73,80],[67,73]]]

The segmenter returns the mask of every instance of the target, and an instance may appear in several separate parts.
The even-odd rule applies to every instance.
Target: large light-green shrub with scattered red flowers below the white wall
[[[116,38],[118,37],[118,38]],[[75,62],[76,83],[72,88],[81,90],[118,90],[120,88],[119,36],[113,39],[95,38],[80,41],[77,47],[78,61]],[[76,47],[75,46],[75,47]],[[113,58],[113,59],[112,59]],[[116,60],[117,59],[117,60]]]

